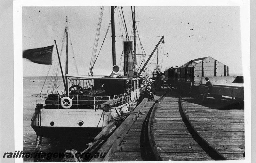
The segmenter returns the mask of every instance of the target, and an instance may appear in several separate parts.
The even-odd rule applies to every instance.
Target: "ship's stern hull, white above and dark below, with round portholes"
[[[135,103],[124,104],[109,112],[86,109],[35,109],[31,127],[38,136],[66,139],[96,137],[114,117],[136,107]],[[129,108],[128,106],[131,105]]]

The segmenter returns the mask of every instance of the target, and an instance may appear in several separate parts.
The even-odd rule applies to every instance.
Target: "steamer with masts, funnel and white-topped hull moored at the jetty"
[[[100,8],[98,28],[101,24],[104,7]],[[95,54],[97,50],[99,31],[97,30],[88,76],[68,74],[68,21],[66,20],[65,34],[66,45],[66,72],[64,74],[57,43],[55,41],[59,68],[62,73],[64,93],[51,92],[36,95],[36,108],[31,119],[31,126],[37,136],[47,138],[67,137],[95,137],[102,128],[117,117],[130,112],[139,102],[140,85],[149,83],[149,77],[142,75],[149,59],[162,42],[161,37],[157,46],[145,62],[144,66],[136,70],[136,48],[134,54],[132,41],[124,41],[124,68],[121,73],[120,66],[116,65],[115,53],[115,30],[114,10],[111,7],[111,29],[112,29],[112,61],[111,74],[106,77],[93,76]],[[135,11],[134,11],[135,12]],[[135,13],[133,18],[133,29],[135,30]],[[134,32],[134,41],[135,41]],[[134,43],[134,45],[136,45]],[[50,50],[51,51],[51,50]],[[23,52],[24,55],[24,52]],[[94,59],[94,60],[93,60]],[[138,67],[138,66],[137,66]],[[62,91],[61,91],[62,92]]]

